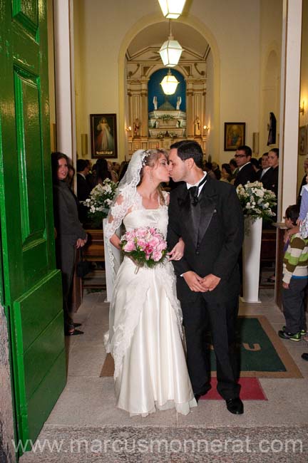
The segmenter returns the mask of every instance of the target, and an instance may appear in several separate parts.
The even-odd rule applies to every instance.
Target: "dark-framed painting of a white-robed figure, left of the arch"
[[[91,157],[118,157],[116,114],[90,114]]]

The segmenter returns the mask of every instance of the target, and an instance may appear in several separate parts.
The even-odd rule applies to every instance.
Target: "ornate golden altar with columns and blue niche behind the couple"
[[[182,140],[196,140],[206,152],[207,120],[205,69],[173,69],[178,80],[175,93],[165,94],[161,81],[165,69],[128,63],[128,159],[136,150],[170,149]],[[203,64],[200,66],[203,66]],[[197,121],[197,122],[196,122]]]

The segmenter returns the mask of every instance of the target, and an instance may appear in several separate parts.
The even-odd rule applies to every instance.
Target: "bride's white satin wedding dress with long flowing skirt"
[[[145,209],[137,193],[123,218],[126,231],[155,227],[167,234],[168,206]],[[110,225],[112,227],[112,225]],[[109,230],[109,236],[114,230]],[[107,351],[115,361],[117,406],[131,415],[197,406],[183,348],[182,313],[171,262],[137,268],[124,257],[111,301]]]

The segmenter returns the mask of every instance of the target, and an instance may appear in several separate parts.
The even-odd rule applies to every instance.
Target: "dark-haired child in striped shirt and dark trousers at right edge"
[[[299,207],[287,207],[284,222],[288,229],[297,227]],[[304,290],[308,282],[308,238],[294,233],[284,253],[282,303],[286,325],[278,331],[280,338],[299,341],[306,334]]]

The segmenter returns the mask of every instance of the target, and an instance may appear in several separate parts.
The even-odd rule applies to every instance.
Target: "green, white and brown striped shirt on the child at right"
[[[308,238],[303,239],[299,233],[291,236],[287,251],[284,253],[283,278],[289,283],[293,278],[307,278],[308,276]]]

